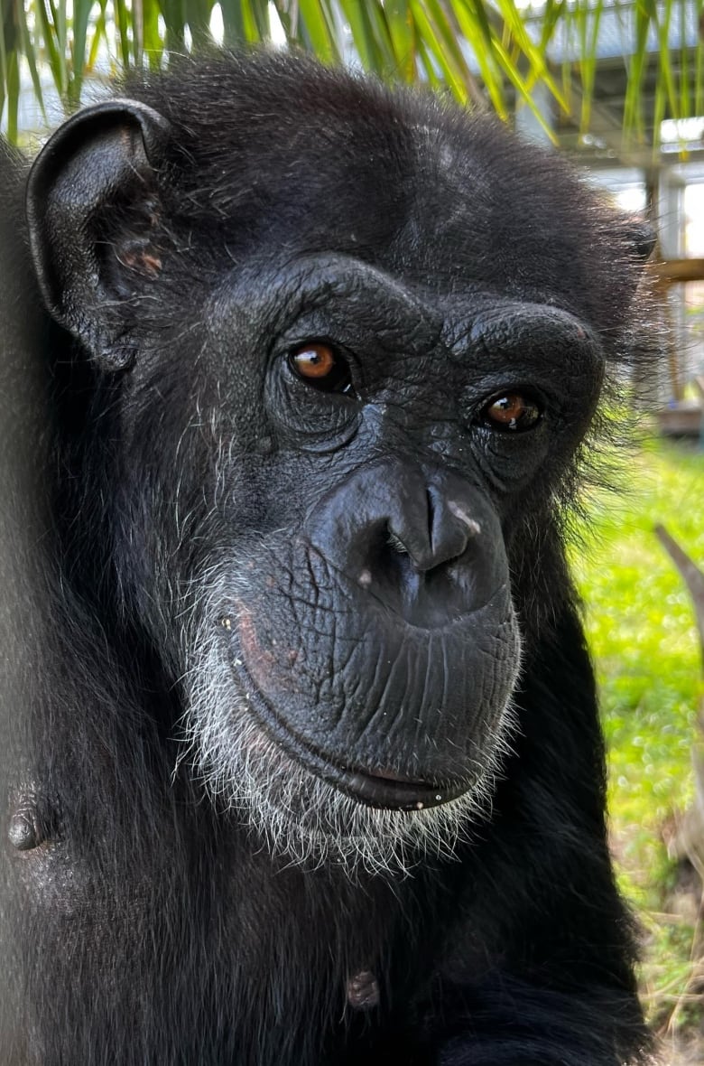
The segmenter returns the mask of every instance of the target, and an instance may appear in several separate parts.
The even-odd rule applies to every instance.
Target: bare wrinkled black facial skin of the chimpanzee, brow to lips
[[[443,316],[432,294],[347,257],[306,256],[262,281],[265,301],[218,293],[208,343],[218,381],[229,362],[250,378],[253,447],[234,447],[265,471],[246,588],[233,568],[211,623],[226,619],[233,684],[338,788],[388,807],[453,798],[493,756],[518,672],[510,488],[544,478],[586,425],[599,344],[564,312],[486,295]],[[332,360],[329,386],[294,362],[311,344]],[[551,379],[568,344],[574,395]],[[515,356],[497,373],[500,345]],[[525,424],[493,410],[512,395],[530,405]],[[262,436],[276,441],[266,457]]]

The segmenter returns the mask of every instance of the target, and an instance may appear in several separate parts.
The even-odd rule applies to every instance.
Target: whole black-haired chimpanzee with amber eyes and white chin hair
[[[1,161],[2,1063],[644,1061],[563,545],[648,233],[304,58],[117,93]]]

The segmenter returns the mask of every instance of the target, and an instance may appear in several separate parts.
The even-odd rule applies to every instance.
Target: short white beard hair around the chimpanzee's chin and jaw
[[[222,586],[217,592],[222,604]],[[234,678],[217,632],[214,594],[210,600],[199,604],[202,620],[182,679],[186,712],[177,766],[190,760],[210,796],[236,813],[260,846],[291,865],[335,866],[354,879],[361,871],[398,876],[428,858],[451,860],[459,843],[472,840],[473,825],[491,814],[502,762],[511,750],[517,720],[510,700],[466,792],[420,809],[372,807],[317,777],[268,737]]]

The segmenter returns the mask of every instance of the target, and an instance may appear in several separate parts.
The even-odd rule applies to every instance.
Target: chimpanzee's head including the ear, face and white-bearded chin
[[[570,596],[643,242],[495,123],[301,59],[125,93],[29,182],[67,569],[275,851],[451,851]]]

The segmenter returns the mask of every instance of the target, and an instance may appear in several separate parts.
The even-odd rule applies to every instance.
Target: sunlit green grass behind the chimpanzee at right
[[[650,441],[623,464],[625,499],[595,499],[595,540],[574,552],[573,569],[601,685],[619,879],[646,931],[643,997],[655,1025],[672,1031],[704,1014],[692,920],[664,912],[675,870],[662,840],[691,800],[703,685],[693,607],[653,527],[661,522],[704,564],[704,453]]]

